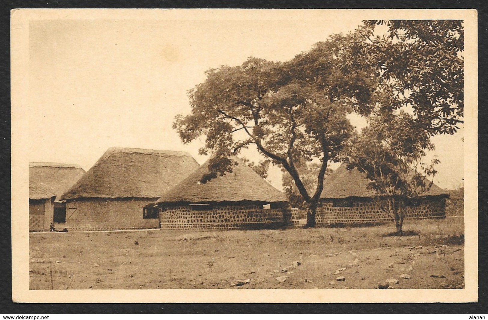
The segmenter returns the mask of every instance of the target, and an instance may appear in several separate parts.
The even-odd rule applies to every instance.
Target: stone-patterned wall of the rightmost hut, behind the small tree
[[[387,206],[384,206],[387,207]],[[407,207],[405,219],[442,218],[445,213],[444,197],[421,198]],[[348,207],[334,207],[333,201],[324,201],[317,208],[317,224],[363,224],[389,222],[389,215],[375,202],[352,202]]]

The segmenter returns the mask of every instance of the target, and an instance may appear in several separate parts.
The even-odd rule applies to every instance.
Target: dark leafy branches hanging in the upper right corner
[[[375,36],[386,26],[384,36]],[[411,108],[431,135],[456,132],[464,114],[464,29],[461,20],[372,20],[356,32],[362,60],[390,93],[383,107]],[[361,62],[358,60],[359,62]]]

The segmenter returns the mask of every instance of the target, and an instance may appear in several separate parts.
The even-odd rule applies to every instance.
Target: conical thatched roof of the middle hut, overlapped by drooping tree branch
[[[203,175],[209,172],[205,162],[175,188],[164,194],[157,203],[205,203],[205,202],[287,202],[283,192],[271,186],[244,162],[232,157],[237,162],[232,172],[201,183]]]

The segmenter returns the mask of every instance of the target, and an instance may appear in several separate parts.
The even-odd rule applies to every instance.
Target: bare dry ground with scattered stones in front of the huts
[[[30,288],[464,288],[462,218],[393,229],[31,233]]]

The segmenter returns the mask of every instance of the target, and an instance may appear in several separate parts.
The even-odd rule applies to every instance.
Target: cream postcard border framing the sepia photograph
[[[465,28],[465,289],[29,290],[29,21],[48,19],[462,19]],[[11,11],[12,299],[16,302],[470,302],[478,300],[478,56],[474,9],[14,9]]]

